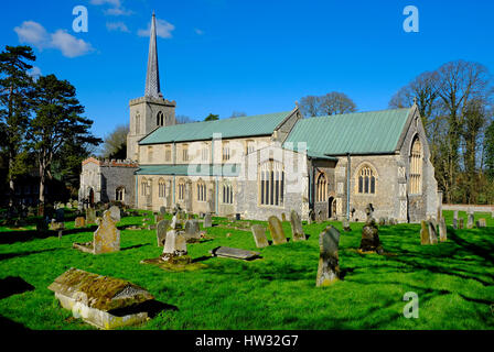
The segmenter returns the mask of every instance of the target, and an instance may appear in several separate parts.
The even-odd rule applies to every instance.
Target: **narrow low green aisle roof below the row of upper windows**
[[[240,164],[140,165],[136,175],[238,176]]]

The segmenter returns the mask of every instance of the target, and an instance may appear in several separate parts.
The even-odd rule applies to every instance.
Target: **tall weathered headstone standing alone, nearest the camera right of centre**
[[[327,227],[319,235],[319,266],[315,286],[329,286],[339,280],[340,263],[337,248],[340,232],[333,227]]]

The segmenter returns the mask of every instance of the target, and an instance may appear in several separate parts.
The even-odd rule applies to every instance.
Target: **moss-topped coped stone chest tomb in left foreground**
[[[55,278],[47,288],[75,318],[100,329],[147,321],[148,312],[142,304],[154,299],[149,292],[127,280],[74,267]]]

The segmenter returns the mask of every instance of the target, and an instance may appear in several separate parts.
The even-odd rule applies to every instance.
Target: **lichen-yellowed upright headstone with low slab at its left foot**
[[[103,218],[97,219],[98,229],[94,232],[93,242],[74,243],[74,248],[93,254],[120,251],[120,231],[111,219],[110,211],[105,210]]]

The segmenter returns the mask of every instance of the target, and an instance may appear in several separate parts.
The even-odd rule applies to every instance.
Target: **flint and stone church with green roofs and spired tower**
[[[79,200],[154,211],[180,205],[257,220],[296,210],[302,219],[354,221],[364,221],[372,204],[375,218],[437,218],[434,168],[417,105],[327,117],[303,117],[296,106],[178,124],[176,103],[160,88],[153,15],[144,97],[129,107],[127,161],[83,162]]]

